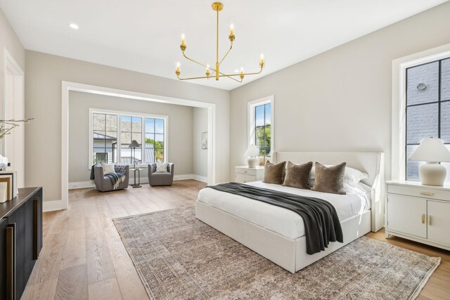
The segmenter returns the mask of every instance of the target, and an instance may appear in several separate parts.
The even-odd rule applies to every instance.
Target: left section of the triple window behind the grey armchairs
[[[92,164],[117,162],[117,115],[92,114]]]

